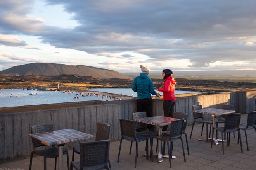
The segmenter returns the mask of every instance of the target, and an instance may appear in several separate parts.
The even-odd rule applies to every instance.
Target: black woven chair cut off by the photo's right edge
[[[248,139],[247,139],[246,130],[255,129],[255,133],[256,133],[255,124],[256,124],[256,111],[254,111],[254,112],[249,112],[249,113],[248,113],[248,117],[247,117],[247,123],[246,123],[246,125],[240,124],[240,126],[239,126],[239,129],[240,129],[240,130],[244,130],[244,134],[245,134],[245,136],[246,136],[247,151],[249,151],[249,146],[248,146]],[[239,138],[238,138],[237,142],[239,143]]]

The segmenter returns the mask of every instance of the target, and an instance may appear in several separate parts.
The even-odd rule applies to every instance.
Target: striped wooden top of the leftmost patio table
[[[28,137],[36,139],[48,146],[94,138],[91,134],[76,131],[74,129],[62,129],[57,131],[28,134]]]

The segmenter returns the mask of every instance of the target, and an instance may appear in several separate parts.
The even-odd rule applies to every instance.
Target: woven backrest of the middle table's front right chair
[[[184,120],[185,119],[177,119],[175,121],[171,121],[171,124],[170,124],[170,128],[171,128],[170,129],[170,139],[176,139],[176,138],[179,138],[182,135]]]

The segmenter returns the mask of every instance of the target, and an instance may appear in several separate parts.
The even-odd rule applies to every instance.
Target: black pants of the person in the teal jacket
[[[137,99],[137,112],[146,112],[147,117],[153,116],[153,104],[151,98],[146,99]],[[151,124],[147,124],[147,128],[150,131],[153,131],[153,126]]]

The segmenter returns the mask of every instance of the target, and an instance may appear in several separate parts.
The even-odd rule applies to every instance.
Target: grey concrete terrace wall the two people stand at
[[[255,97],[256,91],[177,95],[175,111],[189,114],[190,125],[194,104],[202,104],[203,108],[232,104],[237,112],[245,114],[255,110]],[[111,125],[111,141],[116,141],[121,139],[119,118],[131,119],[134,112],[136,99],[0,108],[0,162],[29,157],[32,143],[27,135],[34,124],[52,123],[56,130],[71,128],[95,135],[97,122],[107,122]],[[153,100],[153,113],[163,115],[162,99]],[[74,145],[78,142],[65,146],[71,149]]]

